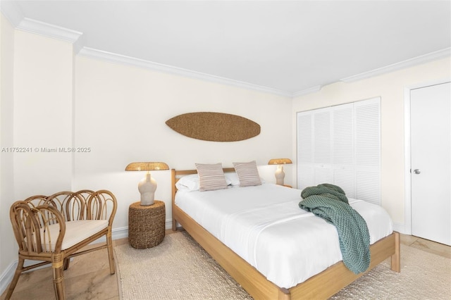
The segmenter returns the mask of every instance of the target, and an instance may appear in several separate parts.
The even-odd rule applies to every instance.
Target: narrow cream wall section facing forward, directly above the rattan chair
[[[16,30],[14,49],[14,195],[70,189],[72,156],[48,149],[72,145],[73,46]],[[46,151],[44,151],[46,149]]]

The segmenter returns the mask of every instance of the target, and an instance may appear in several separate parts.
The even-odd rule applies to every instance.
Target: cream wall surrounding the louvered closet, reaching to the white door
[[[450,58],[371,77],[356,82],[336,82],[319,92],[292,101],[293,135],[296,140],[296,113],[314,108],[345,104],[381,96],[381,196],[398,230],[404,228],[404,92],[409,87],[451,78]],[[292,156],[296,143],[292,143]],[[293,177],[296,170],[293,169]]]

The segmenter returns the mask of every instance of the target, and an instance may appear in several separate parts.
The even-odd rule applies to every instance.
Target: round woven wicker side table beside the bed
[[[140,202],[128,208],[128,242],[133,248],[152,248],[163,241],[166,210],[163,201],[142,206]]]

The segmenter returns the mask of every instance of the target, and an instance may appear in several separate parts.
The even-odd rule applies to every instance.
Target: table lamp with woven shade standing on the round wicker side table
[[[155,200],[156,181],[150,176],[151,170],[169,170],[166,163],[129,163],[125,167],[126,171],[147,171],[146,177],[138,183],[138,190],[141,194],[141,205],[152,205]]]

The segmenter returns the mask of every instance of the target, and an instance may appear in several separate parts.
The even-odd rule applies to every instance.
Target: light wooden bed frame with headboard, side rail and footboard
[[[224,168],[223,170],[224,173],[235,172],[234,168]],[[278,287],[273,282],[266,280],[266,277],[257,269],[207,232],[178,206],[175,206],[175,192],[177,192],[175,182],[183,175],[196,173],[197,170],[171,170],[173,230],[176,231],[177,223],[180,223],[254,299],[328,299],[364,274],[352,273],[340,261],[290,289]],[[393,232],[371,245],[370,251],[371,263],[366,272],[385,261],[386,258],[391,258],[391,269],[400,272],[400,234],[398,232]]]

